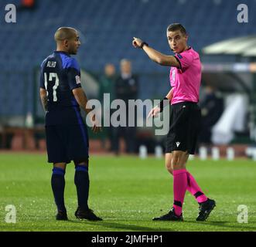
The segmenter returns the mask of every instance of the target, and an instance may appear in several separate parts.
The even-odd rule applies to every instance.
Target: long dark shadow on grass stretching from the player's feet
[[[128,230],[128,231],[138,231],[138,232],[173,232],[173,230],[171,228],[151,228],[151,227],[145,227],[145,226],[140,226],[140,225],[120,224],[120,223],[106,222],[106,221],[89,222],[86,220],[80,220],[80,221],[69,220],[69,222],[94,225],[94,226],[101,225],[104,228],[117,229],[119,231]]]

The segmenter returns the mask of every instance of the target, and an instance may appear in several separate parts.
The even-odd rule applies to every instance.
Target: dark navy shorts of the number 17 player
[[[46,126],[46,147],[49,163],[84,161],[89,157],[86,125]]]

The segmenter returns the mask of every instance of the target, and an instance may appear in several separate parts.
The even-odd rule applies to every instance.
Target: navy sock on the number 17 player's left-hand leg
[[[51,179],[51,185],[53,189],[53,195],[55,199],[58,211],[66,212],[64,203],[64,188],[65,188],[65,170],[60,167],[53,167],[53,174]]]

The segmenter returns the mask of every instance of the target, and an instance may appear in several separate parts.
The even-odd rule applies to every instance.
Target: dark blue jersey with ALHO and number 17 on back
[[[72,93],[81,87],[76,59],[67,52],[53,52],[41,65],[40,87],[47,91],[46,126],[84,124]]]

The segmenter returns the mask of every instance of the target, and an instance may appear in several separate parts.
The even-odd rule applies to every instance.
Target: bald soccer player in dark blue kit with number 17
[[[56,202],[56,220],[67,220],[64,203],[65,171],[67,164],[75,164],[74,183],[77,187],[77,218],[100,221],[87,204],[89,195],[88,134],[80,114],[86,111],[93,123],[93,131],[101,130],[96,116],[86,107],[87,96],[80,83],[80,67],[70,55],[80,46],[76,29],[62,27],[55,33],[56,51],[41,65],[40,98],[46,111],[46,147],[48,162],[53,163],[51,185]]]

